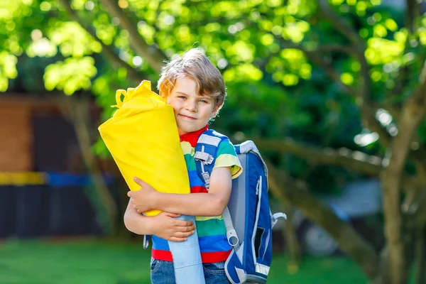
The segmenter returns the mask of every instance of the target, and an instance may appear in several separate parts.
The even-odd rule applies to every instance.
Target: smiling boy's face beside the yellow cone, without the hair
[[[198,94],[197,83],[186,76],[176,80],[168,104],[175,111],[179,135],[202,129],[217,112],[213,99]]]

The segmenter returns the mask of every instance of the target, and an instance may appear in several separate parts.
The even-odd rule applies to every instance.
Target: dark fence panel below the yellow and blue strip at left
[[[82,186],[0,186],[0,238],[101,234]]]

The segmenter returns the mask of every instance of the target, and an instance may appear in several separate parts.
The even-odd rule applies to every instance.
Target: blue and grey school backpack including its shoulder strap
[[[197,173],[209,190],[219,143],[228,139],[213,130],[202,133],[195,146]],[[266,283],[272,260],[272,228],[283,213],[272,214],[268,201],[268,169],[253,141],[236,145],[243,173],[232,181],[228,207],[222,217],[233,247],[225,263],[233,284]]]

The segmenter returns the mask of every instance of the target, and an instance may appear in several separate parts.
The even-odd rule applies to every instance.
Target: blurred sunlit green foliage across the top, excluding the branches
[[[118,4],[146,43],[158,46],[168,58],[201,47],[219,67],[229,94],[213,123],[219,131],[240,139],[290,136],[317,147],[383,153],[376,139],[354,140],[370,133],[361,126],[356,98],[294,48],[298,45],[321,55],[344,84],[356,87],[359,83],[357,58],[315,51],[349,45],[318,11],[317,1],[119,0]],[[381,6],[380,0],[332,0],[329,4],[365,40],[373,102],[387,99],[402,68],[418,75],[426,55],[425,16],[409,33],[402,11]],[[0,91],[90,92],[104,109],[105,120],[113,111],[109,106],[114,104],[115,90],[136,83],[126,68],[102,55],[99,42],[141,72],[141,80],[155,81],[158,74],[131,48],[129,32],[120,28],[120,19],[107,13],[99,0],[72,0],[71,6],[80,21],[94,28],[97,39],[70,21],[72,16],[58,0],[0,0]],[[413,90],[417,77],[403,83],[401,92],[392,97],[395,104]],[[107,153],[100,142],[94,149]],[[312,167],[293,155],[271,158],[317,190],[333,190],[339,181],[359,178],[342,168]]]

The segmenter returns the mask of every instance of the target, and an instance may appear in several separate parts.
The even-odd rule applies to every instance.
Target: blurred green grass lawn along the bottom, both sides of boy
[[[119,241],[4,241],[0,283],[150,283],[150,251]],[[284,256],[273,259],[268,283],[366,283],[348,258],[305,258],[299,267]]]

